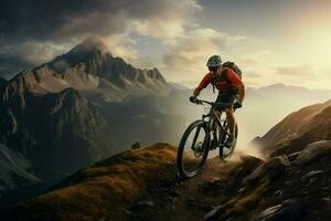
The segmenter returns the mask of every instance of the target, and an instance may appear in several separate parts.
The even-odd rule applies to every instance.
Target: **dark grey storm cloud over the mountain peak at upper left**
[[[7,52],[18,53],[10,52],[7,56],[17,55],[26,64],[31,61],[36,64],[43,60],[41,56],[45,60],[65,51],[54,45],[67,43],[68,50],[68,46],[92,34],[109,39],[130,39],[136,34],[174,41],[183,34],[185,27],[194,23],[194,13],[200,10],[194,0],[6,1],[0,7],[0,51],[4,55],[4,48],[9,48]],[[111,43],[111,50],[134,60],[137,52],[129,46],[132,42],[117,42],[117,45]],[[28,49],[23,44],[52,46],[43,52],[39,46]],[[31,54],[30,57],[26,53]],[[3,73],[4,69],[0,71],[0,74]]]

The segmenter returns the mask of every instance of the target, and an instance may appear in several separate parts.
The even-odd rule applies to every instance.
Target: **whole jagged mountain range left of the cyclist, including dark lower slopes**
[[[62,179],[134,143],[168,139],[181,117],[142,104],[170,94],[157,69],[136,69],[100,40],[87,39],[49,63],[0,80],[0,140],[22,154],[36,177]]]

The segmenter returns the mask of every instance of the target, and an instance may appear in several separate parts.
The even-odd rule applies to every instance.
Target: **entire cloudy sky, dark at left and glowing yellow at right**
[[[330,0],[11,0],[0,3],[0,75],[65,53],[90,35],[137,67],[193,86],[212,54],[249,86],[330,88]]]

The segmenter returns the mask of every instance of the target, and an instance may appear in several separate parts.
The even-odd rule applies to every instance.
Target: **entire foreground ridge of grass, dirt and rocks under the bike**
[[[177,175],[175,154],[174,147],[158,144],[114,156],[7,215],[28,221],[331,218],[330,140],[266,160],[242,156],[223,164],[213,158],[200,176],[185,181]]]

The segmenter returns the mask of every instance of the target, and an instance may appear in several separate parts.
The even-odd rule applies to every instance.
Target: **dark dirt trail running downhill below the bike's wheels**
[[[138,207],[127,211],[130,220],[202,220],[203,217],[226,202],[241,188],[231,173],[237,172],[241,160],[224,162],[217,157],[209,159],[201,175],[182,181],[175,166],[168,168],[163,179],[152,185],[138,201],[152,202],[152,207]]]

